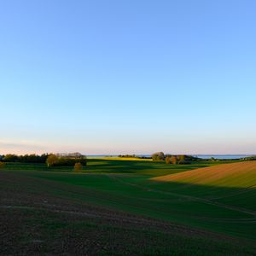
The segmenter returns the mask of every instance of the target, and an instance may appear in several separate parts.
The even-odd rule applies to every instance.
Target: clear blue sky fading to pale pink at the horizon
[[[254,0],[1,0],[0,154],[256,154]]]

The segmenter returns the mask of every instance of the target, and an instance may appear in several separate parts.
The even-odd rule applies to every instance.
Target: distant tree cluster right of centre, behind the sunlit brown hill
[[[163,152],[156,152],[151,155],[154,161],[166,161],[167,165],[186,165],[191,161],[197,160],[196,157],[186,154],[164,154]]]

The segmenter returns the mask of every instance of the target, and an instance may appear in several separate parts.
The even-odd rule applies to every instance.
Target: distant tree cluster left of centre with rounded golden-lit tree
[[[86,166],[87,159],[83,157],[58,157],[55,154],[49,154],[46,164],[48,167],[53,166],[74,166],[75,164],[80,163],[83,166]]]

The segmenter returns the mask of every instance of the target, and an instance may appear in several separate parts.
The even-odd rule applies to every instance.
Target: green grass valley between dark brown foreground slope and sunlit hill
[[[48,169],[45,165],[29,164],[8,164],[6,169],[65,186],[61,190],[45,188],[53,195],[227,235],[256,239],[255,214],[249,212],[255,209],[255,189],[242,191],[246,188],[218,187],[216,184],[160,183],[149,179],[220,163],[225,162],[205,161],[172,166],[141,160],[91,159],[83,173],[73,173],[70,167]],[[73,188],[79,188],[79,192],[71,192]],[[225,197],[226,195],[229,196]]]

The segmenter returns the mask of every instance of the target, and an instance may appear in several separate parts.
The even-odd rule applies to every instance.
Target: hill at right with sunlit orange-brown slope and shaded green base
[[[199,168],[152,177],[153,187],[237,207],[256,214],[256,161]]]

